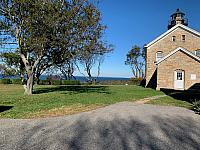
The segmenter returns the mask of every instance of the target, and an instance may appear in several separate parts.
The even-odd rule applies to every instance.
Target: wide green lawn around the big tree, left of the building
[[[34,94],[27,96],[20,85],[0,85],[0,95],[0,118],[37,118],[73,114],[163,93],[139,86],[35,86]]]

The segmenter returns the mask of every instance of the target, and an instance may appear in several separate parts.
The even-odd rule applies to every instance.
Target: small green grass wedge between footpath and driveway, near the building
[[[148,104],[153,105],[164,105],[164,106],[177,106],[177,107],[185,107],[185,108],[191,108],[191,103],[183,100],[177,100],[170,96],[162,97],[159,99],[151,100],[148,102]]]

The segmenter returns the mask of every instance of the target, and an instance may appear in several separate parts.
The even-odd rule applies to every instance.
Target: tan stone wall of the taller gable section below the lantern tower
[[[185,35],[185,41],[182,40],[182,35]],[[176,36],[176,41],[172,41],[173,36]],[[148,86],[149,81],[151,81],[151,78],[156,70],[156,52],[162,51],[163,55],[166,56],[178,47],[183,47],[189,51],[200,49],[200,37],[190,31],[186,31],[185,29],[178,27],[158,42],[149,46],[146,53],[146,86]]]

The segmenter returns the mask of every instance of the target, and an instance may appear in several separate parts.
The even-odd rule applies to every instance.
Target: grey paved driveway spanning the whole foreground
[[[123,102],[38,120],[0,120],[1,150],[200,150],[200,116],[178,108]]]

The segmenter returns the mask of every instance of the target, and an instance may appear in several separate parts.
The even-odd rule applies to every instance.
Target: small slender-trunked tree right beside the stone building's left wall
[[[144,78],[145,49],[135,45],[126,55],[126,65],[131,67],[135,78]]]

